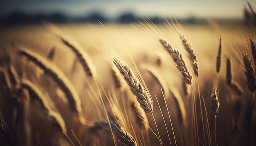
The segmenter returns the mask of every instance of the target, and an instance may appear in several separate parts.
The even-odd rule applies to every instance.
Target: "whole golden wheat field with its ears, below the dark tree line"
[[[255,146],[250,26],[0,28],[1,146]]]

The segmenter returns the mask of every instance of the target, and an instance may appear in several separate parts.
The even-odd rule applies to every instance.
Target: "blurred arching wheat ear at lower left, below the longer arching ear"
[[[47,117],[52,119],[53,125],[56,126],[59,131],[66,133],[67,130],[63,118],[59,113],[52,111],[48,101],[46,100],[44,94],[40,91],[40,89],[32,82],[25,79],[22,80],[21,86],[22,88],[26,88],[29,91],[29,95],[32,100],[37,100],[40,103],[40,106],[42,106],[42,108],[44,109]]]

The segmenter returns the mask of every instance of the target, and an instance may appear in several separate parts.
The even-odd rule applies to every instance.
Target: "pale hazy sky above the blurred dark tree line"
[[[248,1],[256,8],[256,0]],[[246,3],[246,0],[1,0],[0,15],[19,9],[31,14],[63,12],[71,16],[101,11],[109,18],[125,12],[176,18],[243,18]]]

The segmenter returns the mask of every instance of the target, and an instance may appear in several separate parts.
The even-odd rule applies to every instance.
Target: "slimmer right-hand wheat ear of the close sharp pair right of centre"
[[[187,39],[185,38],[184,35],[180,35],[180,40],[182,41],[182,44],[183,44],[185,50],[188,53],[189,60],[191,62],[191,65],[193,66],[195,76],[198,77],[198,75],[199,75],[199,69],[198,69],[199,65],[198,65],[198,59],[197,59],[197,57],[194,53],[193,47],[192,47],[191,44],[189,44],[187,42]]]

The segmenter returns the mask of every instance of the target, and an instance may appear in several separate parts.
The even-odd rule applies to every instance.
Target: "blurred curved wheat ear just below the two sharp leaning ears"
[[[180,95],[180,91],[175,87],[171,87],[170,91],[176,105],[179,123],[180,125],[186,126],[186,108]]]

